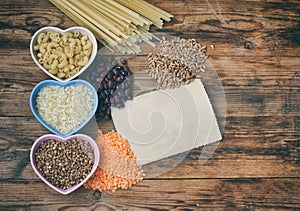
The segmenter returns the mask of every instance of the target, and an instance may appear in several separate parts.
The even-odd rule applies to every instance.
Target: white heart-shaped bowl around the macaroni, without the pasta
[[[92,43],[92,52],[91,52],[91,55],[90,55],[90,58],[88,60],[88,63],[86,65],[84,65],[79,72],[77,72],[75,75],[73,75],[72,77],[69,77],[69,78],[66,78],[66,79],[61,79],[59,77],[57,77],[56,75],[53,75],[49,72],[49,70],[47,70],[40,62],[39,62],[39,58],[37,56],[37,53],[38,51],[34,49],[34,46],[38,44],[38,36],[41,34],[41,33],[47,33],[47,32],[57,32],[59,33],[60,35],[63,35],[67,32],[71,32],[71,33],[75,33],[75,32],[79,32],[80,34],[82,35],[87,35],[88,39],[91,41]],[[97,40],[94,36],[94,34],[84,28],[84,27],[71,27],[71,28],[68,28],[66,30],[62,30],[60,28],[57,28],[57,27],[43,27],[41,29],[39,29],[38,31],[36,31],[34,33],[34,35],[32,36],[31,38],[31,42],[30,42],[30,54],[31,54],[31,57],[33,59],[33,61],[39,66],[39,68],[41,70],[43,70],[48,76],[50,76],[51,78],[57,80],[57,81],[60,81],[60,82],[68,82],[68,81],[71,81],[73,79],[75,79],[76,77],[78,77],[80,74],[82,74],[91,64],[92,62],[94,61],[96,55],[97,55]]]

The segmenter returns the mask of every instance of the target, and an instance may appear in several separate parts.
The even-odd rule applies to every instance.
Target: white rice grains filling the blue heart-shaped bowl
[[[37,94],[36,108],[52,128],[67,134],[78,128],[92,113],[92,91],[82,85],[43,87]]]

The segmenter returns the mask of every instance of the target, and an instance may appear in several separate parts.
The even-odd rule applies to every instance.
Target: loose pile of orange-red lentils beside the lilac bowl
[[[100,163],[84,187],[114,192],[128,189],[143,180],[142,166],[136,163],[128,141],[120,134],[115,131],[104,134],[99,130],[96,142],[100,150]]]

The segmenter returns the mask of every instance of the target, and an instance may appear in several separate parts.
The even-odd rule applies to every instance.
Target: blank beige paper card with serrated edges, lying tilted
[[[112,108],[112,118],[140,164],[222,139],[200,79],[180,88],[139,95],[124,108]]]

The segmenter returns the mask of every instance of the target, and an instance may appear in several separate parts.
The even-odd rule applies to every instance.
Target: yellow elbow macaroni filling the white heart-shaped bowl
[[[40,33],[34,46],[38,61],[50,74],[67,79],[88,64],[93,44],[87,35],[54,31]]]

